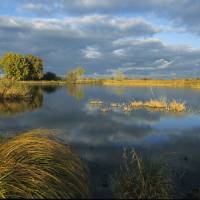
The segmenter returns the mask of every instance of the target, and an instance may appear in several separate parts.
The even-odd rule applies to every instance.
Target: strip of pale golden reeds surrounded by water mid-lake
[[[146,109],[149,111],[154,112],[172,112],[172,113],[183,113],[186,112],[188,109],[184,102],[179,102],[177,100],[173,100],[171,102],[167,102],[164,99],[151,99],[149,101],[132,101],[131,103],[117,103],[111,102],[106,105],[101,100],[91,100],[89,101],[89,105],[92,107],[98,108],[102,112],[113,111],[115,109],[120,109],[123,112],[131,112],[136,109]]]

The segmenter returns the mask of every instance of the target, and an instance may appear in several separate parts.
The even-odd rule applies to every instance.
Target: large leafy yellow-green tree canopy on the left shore
[[[43,77],[43,61],[33,55],[5,53],[0,59],[0,66],[7,78],[38,80]]]

